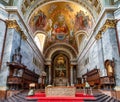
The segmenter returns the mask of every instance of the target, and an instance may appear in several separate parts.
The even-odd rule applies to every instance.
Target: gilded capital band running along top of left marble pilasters
[[[6,24],[8,28],[15,29],[17,32],[20,32],[21,37],[23,40],[27,40],[27,36],[21,30],[20,26],[18,25],[16,20],[6,20]]]

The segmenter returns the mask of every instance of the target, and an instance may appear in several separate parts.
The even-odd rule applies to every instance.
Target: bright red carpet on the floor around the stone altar
[[[75,97],[46,97],[45,93],[35,93],[34,96],[27,96],[27,100],[38,100],[38,102],[84,102],[85,99],[95,100],[91,95],[76,93]]]

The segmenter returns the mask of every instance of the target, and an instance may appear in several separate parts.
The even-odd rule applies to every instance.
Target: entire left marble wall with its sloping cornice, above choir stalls
[[[8,11],[9,12],[9,11]],[[13,14],[12,14],[13,13]],[[7,16],[7,17],[6,17]],[[4,19],[3,19],[4,18]],[[0,19],[8,19],[8,13],[3,8],[0,8]],[[37,46],[33,41],[33,37],[30,35],[30,31],[26,26],[26,23],[22,20],[22,17],[16,12],[9,12],[9,19],[16,20],[20,26],[21,31],[27,36],[27,40],[21,40],[21,51],[22,54],[22,63],[27,66],[28,69],[34,70],[37,74],[41,73],[43,70],[43,56],[38,50]],[[5,26],[0,22],[0,28],[2,33],[4,33]],[[2,34],[0,31],[0,34]],[[7,28],[5,47],[4,47],[4,56],[2,60],[2,66],[0,70],[0,90],[7,89],[7,76],[9,75],[9,67],[7,67],[6,62],[12,61],[12,55],[18,46],[20,45],[20,31],[17,31],[15,28]],[[0,36],[0,42],[2,41],[2,35]],[[38,60],[41,66],[36,66],[33,63],[33,57]]]

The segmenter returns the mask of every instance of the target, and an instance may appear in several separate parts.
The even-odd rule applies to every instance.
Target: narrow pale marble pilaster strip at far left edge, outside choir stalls
[[[7,89],[6,82],[7,82],[7,76],[9,75],[9,68],[6,65],[6,62],[10,62],[11,60],[13,34],[14,34],[14,29],[7,29],[7,35],[6,35],[7,40],[5,42],[4,55],[0,70],[0,87],[4,87],[5,89]]]

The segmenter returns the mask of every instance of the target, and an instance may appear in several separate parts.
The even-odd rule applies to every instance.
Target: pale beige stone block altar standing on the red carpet
[[[76,88],[73,86],[48,86],[45,88],[46,97],[61,97],[69,96],[75,97]]]

